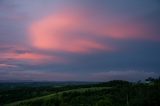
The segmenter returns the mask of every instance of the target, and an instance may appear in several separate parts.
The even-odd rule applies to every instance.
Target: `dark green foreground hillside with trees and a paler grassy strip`
[[[116,80],[63,86],[56,88],[57,91],[52,94],[5,106],[160,106],[160,78],[148,78],[146,81],[130,83]]]

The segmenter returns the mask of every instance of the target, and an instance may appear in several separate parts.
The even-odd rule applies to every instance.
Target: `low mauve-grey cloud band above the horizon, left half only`
[[[71,81],[72,79],[76,79],[76,75],[65,72],[0,70],[0,80]]]

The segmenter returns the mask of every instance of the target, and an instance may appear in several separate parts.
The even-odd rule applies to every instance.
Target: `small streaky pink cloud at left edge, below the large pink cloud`
[[[0,46],[0,60],[9,62],[25,62],[27,64],[44,64],[44,63],[59,63],[64,62],[64,59],[55,56],[48,55],[41,52],[36,52],[33,49],[29,49],[25,46],[17,45],[1,45]],[[3,67],[5,64],[2,64]],[[7,65],[6,65],[7,66]]]

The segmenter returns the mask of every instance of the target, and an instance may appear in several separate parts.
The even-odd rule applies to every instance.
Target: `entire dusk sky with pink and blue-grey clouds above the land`
[[[0,80],[160,76],[159,0],[0,0]]]

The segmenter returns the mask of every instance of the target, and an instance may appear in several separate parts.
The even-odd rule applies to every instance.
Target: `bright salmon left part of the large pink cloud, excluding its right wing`
[[[30,29],[30,39],[34,47],[53,51],[85,53],[92,50],[111,51],[113,47],[104,45],[74,32],[94,33],[96,29],[89,25],[83,16],[65,12],[50,15],[33,22]],[[93,31],[94,30],[94,31]]]

